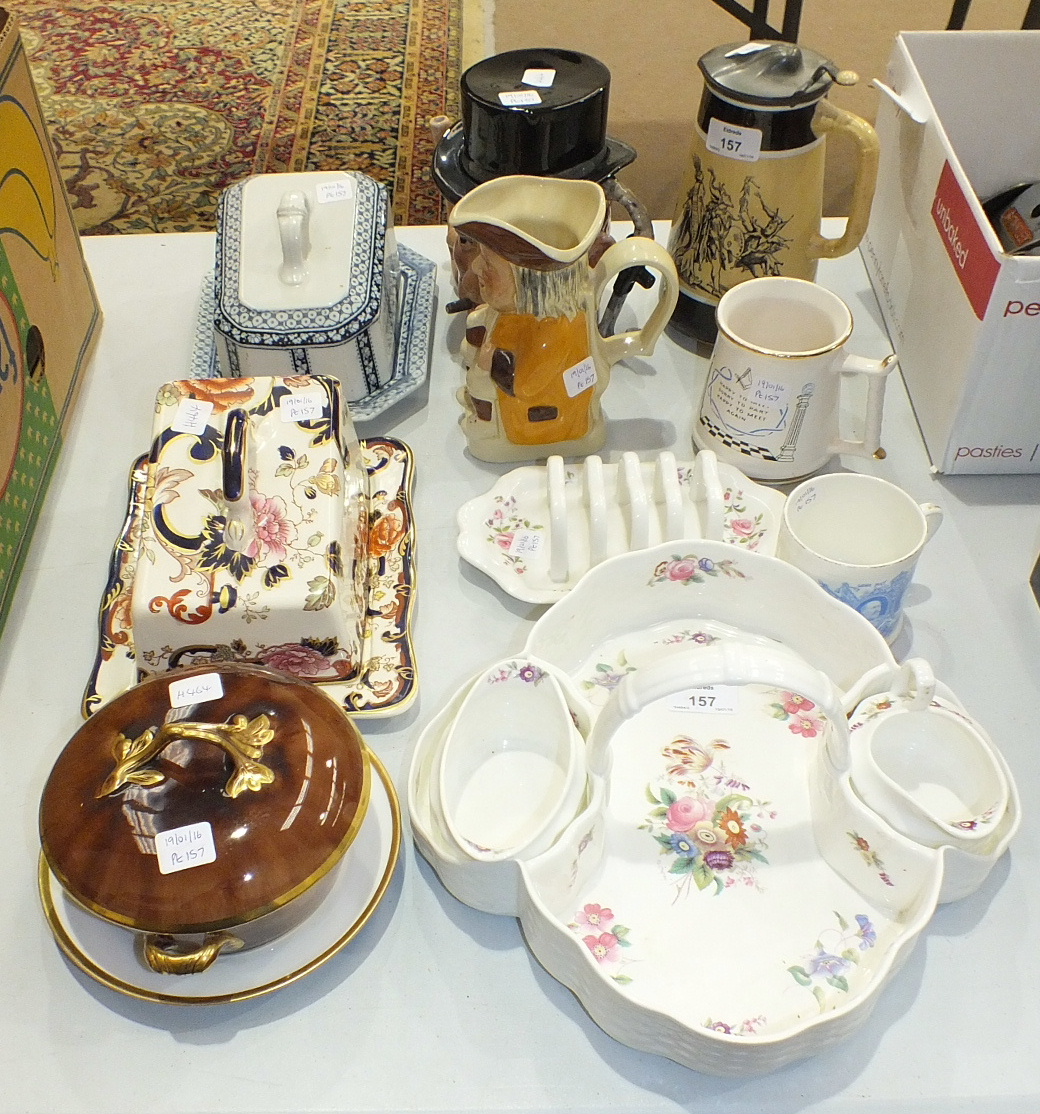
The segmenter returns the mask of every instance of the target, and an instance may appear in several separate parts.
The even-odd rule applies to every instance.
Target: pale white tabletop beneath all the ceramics
[[[442,228],[400,231],[440,262]],[[336,959],[274,995],[181,1007],[109,990],[68,964],[36,891],[37,805],[79,722],[97,607],[146,448],[157,387],[189,371],[213,236],[86,241],[105,310],[94,361],[0,649],[0,1111],[1032,1111],[1040,1105],[1040,846],[1032,802],[1040,610],[1040,477],[931,472],[899,381],[884,461],[846,467],[894,480],[946,519],[911,589],[894,647],[928,658],[1007,756],[1024,823],[973,897],[939,909],[867,1023],[840,1047],[763,1078],[698,1075],[604,1034],[524,947],[519,926],[461,905],[405,831],[384,903]],[[889,350],[859,256],[820,280],[856,319],[853,346]],[[626,311],[627,312],[627,311]],[[543,608],[519,603],[455,553],[455,510],[504,467],[464,451],[452,356],[462,322],[438,313],[428,389],[359,427],[415,453],[420,698],[364,732],[403,798],[419,732],[478,668],[519,649]],[[705,362],[670,340],[615,369],[607,453],[689,459]],[[709,957],[689,957],[689,962]]]

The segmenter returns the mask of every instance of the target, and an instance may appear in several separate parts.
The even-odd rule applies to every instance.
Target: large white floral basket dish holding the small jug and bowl
[[[1013,783],[973,851],[910,839],[857,795],[846,717],[900,666],[774,557],[691,539],[610,558],[517,661],[569,683],[586,805],[493,873],[455,853],[433,783],[463,686],[413,754],[416,846],[460,900],[518,916],[607,1033],[696,1071],[769,1072],[846,1037],[936,903],[974,892],[1019,827]]]

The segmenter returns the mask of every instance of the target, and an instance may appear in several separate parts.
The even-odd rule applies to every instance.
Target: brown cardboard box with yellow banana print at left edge
[[[101,322],[17,20],[0,8],[0,628]]]

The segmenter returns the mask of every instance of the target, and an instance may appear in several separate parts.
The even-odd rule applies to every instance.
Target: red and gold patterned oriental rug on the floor
[[[249,174],[354,169],[445,217],[428,121],[459,115],[462,0],[0,0],[84,233],[214,227]]]

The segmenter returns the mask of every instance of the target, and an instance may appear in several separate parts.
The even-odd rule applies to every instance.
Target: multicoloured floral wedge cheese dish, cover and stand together
[[[351,712],[414,696],[412,461],[324,377],[179,380],[135,466],[87,714],[144,676],[253,662]]]

